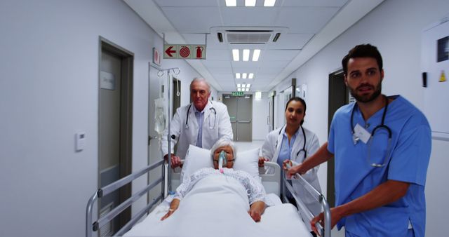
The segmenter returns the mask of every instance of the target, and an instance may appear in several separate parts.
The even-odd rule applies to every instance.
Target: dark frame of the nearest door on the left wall
[[[120,95],[120,158],[119,177],[125,177],[132,172],[133,165],[133,63],[134,53],[126,50],[108,39],[99,36],[98,39],[98,92],[100,92],[100,73],[102,52],[107,51],[121,58],[121,95]],[[98,93],[98,184],[100,187],[100,93]],[[119,202],[126,201],[131,196],[132,186],[126,184],[119,189]],[[100,216],[100,205],[98,205],[98,216]],[[126,208],[119,215],[120,229],[131,217],[131,208]],[[115,230],[114,230],[115,233]]]

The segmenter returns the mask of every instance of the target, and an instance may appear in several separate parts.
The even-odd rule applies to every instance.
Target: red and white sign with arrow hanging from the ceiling
[[[206,59],[206,44],[164,44],[163,59]]]

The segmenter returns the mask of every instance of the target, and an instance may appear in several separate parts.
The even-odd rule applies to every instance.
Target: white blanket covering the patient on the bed
[[[225,175],[208,175],[192,186],[173,215],[160,221],[166,211],[159,211],[158,219],[145,219],[126,236],[279,236],[280,233],[302,236],[309,233],[293,205],[280,207],[288,211],[267,209],[262,215],[262,223],[269,221],[273,224],[256,223],[248,214],[248,194],[241,182]],[[266,218],[269,212],[273,215]],[[279,222],[279,219],[289,223]]]

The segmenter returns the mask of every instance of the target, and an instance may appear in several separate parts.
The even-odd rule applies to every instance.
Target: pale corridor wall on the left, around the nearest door
[[[0,1],[0,32],[0,236],[84,236],[98,189],[99,36],[135,55],[133,170],[147,165],[148,62],[162,40],[119,0]],[[199,76],[162,63],[180,67],[183,88]]]

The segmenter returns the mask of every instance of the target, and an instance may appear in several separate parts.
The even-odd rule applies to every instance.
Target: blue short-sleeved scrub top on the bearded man
[[[391,149],[387,151],[388,134],[377,129],[370,148],[368,142],[354,145],[351,133],[351,111],[354,103],[335,112],[330,126],[328,151],[335,154],[336,205],[359,198],[387,180],[410,183],[406,196],[380,208],[357,213],[337,225],[359,236],[406,236],[408,222],[415,236],[424,236],[424,185],[431,151],[431,130],[420,110],[401,96],[396,96],[387,109],[384,124],[391,129]],[[356,107],[354,122],[369,133],[380,125],[384,108],[364,121]],[[370,163],[387,163],[376,168]]]

